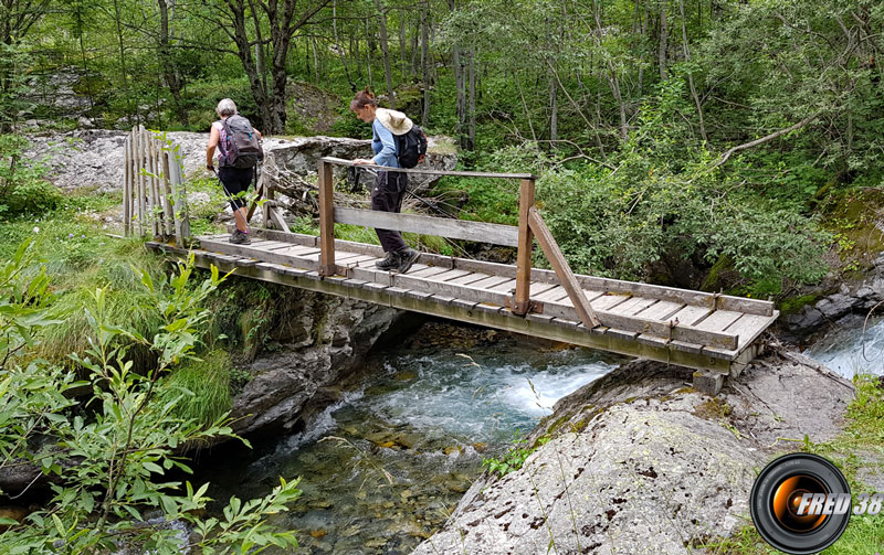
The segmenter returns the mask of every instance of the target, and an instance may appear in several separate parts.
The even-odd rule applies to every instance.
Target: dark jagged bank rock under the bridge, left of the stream
[[[352,371],[402,313],[301,289],[285,302],[298,309],[273,332],[282,349],[241,366],[253,378],[233,399],[236,434],[292,430],[305,404]]]

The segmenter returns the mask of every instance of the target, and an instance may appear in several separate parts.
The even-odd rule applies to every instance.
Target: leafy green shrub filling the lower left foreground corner
[[[36,277],[25,271],[34,262],[31,244],[0,270],[0,468],[30,462],[55,476],[51,499],[21,523],[3,521],[0,543],[8,553],[109,553],[120,545],[150,553],[250,553],[267,545],[297,545],[292,532],[271,529],[264,517],[285,511],[299,495],[297,482],[281,485],[263,499],[232,498],[223,519],[201,519],[210,499],[208,484],[170,481],[165,474],[190,472],[175,450],[196,440],[232,436],[225,415],[198,423],[176,414],[180,397],[157,396],[157,382],[187,360],[193,360],[209,311],[201,308],[223,280],[217,270],[202,284],[191,284],[192,257],[168,278],[140,271],[141,287],[151,297],[162,324],[151,337],[120,327],[107,310],[107,289],[96,288],[85,308],[88,348],[72,353],[86,371],[87,382],[45,361],[25,366],[13,355],[36,343],[39,331],[52,324],[45,269]],[[128,342],[120,341],[125,337]],[[149,348],[156,365],[147,375],[131,372],[129,343]],[[8,364],[13,362],[13,364]],[[65,395],[72,387],[92,385],[88,413],[72,410],[77,402]],[[9,394],[15,392],[14,395]],[[51,441],[33,441],[35,438]],[[166,522],[190,523],[194,540],[180,538],[166,526],[144,525],[145,514],[160,510]]]

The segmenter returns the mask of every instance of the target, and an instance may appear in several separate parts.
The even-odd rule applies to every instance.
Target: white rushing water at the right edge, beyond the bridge
[[[862,321],[857,327],[834,330],[804,354],[848,378],[856,374],[884,375],[884,318],[870,319],[865,333]]]

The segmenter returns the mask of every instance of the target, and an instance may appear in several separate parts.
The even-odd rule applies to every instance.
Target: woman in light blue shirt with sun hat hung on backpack
[[[375,158],[354,160],[356,164],[375,164],[387,168],[413,168],[427,152],[427,137],[401,111],[378,107],[375,95],[360,90],[350,102],[350,110],[356,117],[371,124],[371,150]],[[398,171],[380,170],[371,189],[371,210],[399,212],[402,196],[408,186],[408,174]],[[375,265],[379,269],[404,274],[420,254],[410,248],[402,234],[392,230],[375,230],[386,256]]]

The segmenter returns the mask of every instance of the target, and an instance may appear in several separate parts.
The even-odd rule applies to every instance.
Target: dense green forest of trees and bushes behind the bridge
[[[785,297],[833,266],[861,269],[867,260],[851,252],[880,243],[863,235],[884,156],[878,2],[10,0],[0,10],[7,131],[29,119],[76,126],[52,107],[60,72],[77,76],[88,117],[108,128],[204,131],[228,96],[265,134],[305,134],[311,115],[294,109],[295,94],[315,88],[340,98],[327,134],[364,138],[347,100],[368,85],[454,137],[464,167],[541,174],[545,217],[579,271]],[[448,189],[467,193],[461,217],[513,221],[514,191],[474,180]]]

